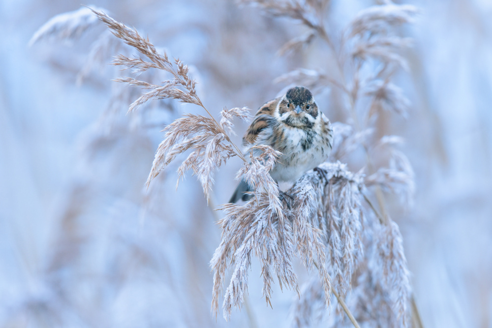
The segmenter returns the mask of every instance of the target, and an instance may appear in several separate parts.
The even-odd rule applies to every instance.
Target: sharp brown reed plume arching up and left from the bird
[[[139,75],[149,69],[158,69],[169,73],[171,80],[166,80],[161,85],[148,83],[131,77],[118,78],[115,81],[131,86],[141,87],[144,92],[129,107],[128,112],[138,109],[151,99],[177,99],[184,103],[190,103],[202,107],[210,118],[201,115],[186,114],[183,118],[175,120],[165,127],[164,140],[159,145],[154,158],[147,186],[161,170],[176,159],[186,150],[193,151],[184,160],[178,169],[179,179],[184,172],[192,169],[198,176],[207,199],[210,197],[214,183],[214,173],[231,156],[239,156],[244,159],[239,148],[232,143],[226,129],[232,126],[231,118],[248,119],[246,108],[234,108],[222,112],[221,123],[217,122],[210,112],[204,107],[196,94],[196,82],[189,75],[189,68],[182,61],[168,59],[166,52],[160,54],[155,46],[142,37],[136,30],[115,21],[102,11],[92,10],[94,14],[104,22],[111,32],[122,39],[123,42],[135,48],[149,61],[140,57],[127,57],[119,55],[113,63],[131,69],[135,75]]]

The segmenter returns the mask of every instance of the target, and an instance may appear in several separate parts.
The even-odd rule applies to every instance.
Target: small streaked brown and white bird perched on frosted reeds
[[[330,154],[333,130],[319,111],[311,91],[294,87],[281,97],[263,104],[249,125],[243,144],[246,149],[262,144],[282,153],[270,175],[277,183],[293,183],[323,163]],[[249,200],[251,187],[241,181],[229,203]]]

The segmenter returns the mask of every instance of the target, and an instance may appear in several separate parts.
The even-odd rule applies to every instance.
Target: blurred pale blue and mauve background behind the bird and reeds
[[[421,12],[402,29],[415,42],[397,84],[412,109],[406,120],[388,117],[380,132],[406,138],[417,189],[413,208],[394,219],[424,326],[491,328],[492,2],[409,3]],[[192,65],[215,114],[224,106],[257,108],[284,87],[273,80],[294,68],[329,67],[315,42],[278,57],[303,28],[233,1],[93,4]],[[330,25],[341,29],[369,4],[334,0]],[[102,24],[72,44],[28,47],[48,19],[79,7],[0,2],[1,327],[287,326],[295,295],[277,288],[267,307],[254,265],[248,306],[229,324],[215,319],[208,262],[221,214],[207,207],[193,177],[176,191],[172,168],[145,192],[162,124],[196,109],[161,102],[124,116],[137,93],[117,89],[109,65],[77,84]],[[123,99],[118,106],[112,92]],[[343,119],[328,105],[334,92],[317,101],[332,120]],[[238,135],[245,128],[238,123]],[[215,204],[228,200],[239,165],[217,174]]]

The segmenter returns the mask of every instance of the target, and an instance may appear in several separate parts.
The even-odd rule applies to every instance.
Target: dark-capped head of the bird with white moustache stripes
[[[280,101],[278,115],[286,125],[306,128],[314,125],[319,112],[311,91],[305,87],[294,87],[288,89]]]

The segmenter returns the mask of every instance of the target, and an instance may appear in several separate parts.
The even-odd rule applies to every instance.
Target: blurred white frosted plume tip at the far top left
[[[97,10],[100,9],[97,8]],[[42,39],[73,41],[97,24],[99,21],[92,14],[92,10],[83,6],[51,18],[32,35],[29,45]]]

